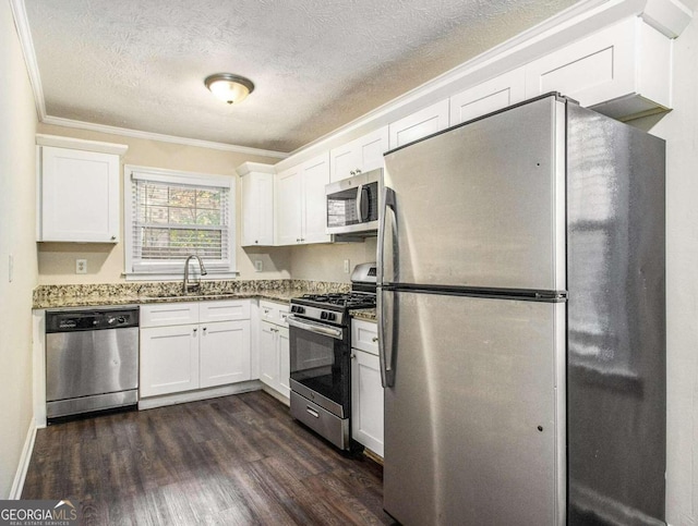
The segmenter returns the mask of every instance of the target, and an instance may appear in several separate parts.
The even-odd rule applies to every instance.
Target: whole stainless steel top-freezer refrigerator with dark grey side
[[[384,509],[663,524],[664,142],[550,94],[385,167]]]

